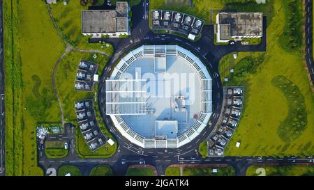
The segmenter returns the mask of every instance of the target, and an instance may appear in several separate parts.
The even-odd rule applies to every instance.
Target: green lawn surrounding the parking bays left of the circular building
[[[101,74],[105,64],[108,61],[108,57],[102,54],[96,54],[97,58],[93,58],[94,54],[82,53],[82,52],[70,52],[67,54],[59,64],[56,74],[56,86],[60,96],[61,104],[64,111],[64,118],[67,122],[77,123],[74,102],[76,100],[92,99],[94,100],[94,109],[96,111],[96,120],[100,126],[101,131],[105,134],[107,138],[113,138],[110,132],[107,131],[100,113],[98,111],[98,102],[95,102],[95,93],[98,92],[97,86],[95,84],[93,92],[78,91],[74,88],[74,82],[77,72],[78,64],[82,59],[87,61],[93,61],[98,63],[98,74]],[[80,157],[111,157],[117,150],[117,143],[114,145],[106,144],[104,147],[91,152],[89,147],[84,141],[84,138],[77,128],[77,153]],[[115,140],[114,140],[115,141]]]

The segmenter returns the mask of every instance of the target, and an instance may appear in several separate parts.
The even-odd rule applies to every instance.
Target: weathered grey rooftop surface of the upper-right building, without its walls
[[[230,30],[230,35],[262,35],[263,13],[219,13],[219,24],[229,24],[223,26],[220,33],[224,36]],[[224,38],[222,38],[224,39]]]

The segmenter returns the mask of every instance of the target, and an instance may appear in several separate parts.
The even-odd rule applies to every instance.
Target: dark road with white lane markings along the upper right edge
[[[313,61],[313,1],[306,0],[306,65],[314,85]]]

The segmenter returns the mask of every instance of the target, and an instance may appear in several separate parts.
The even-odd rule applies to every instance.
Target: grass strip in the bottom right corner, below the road
[[[314,166],[250,166],[247,176],[314,176]]]

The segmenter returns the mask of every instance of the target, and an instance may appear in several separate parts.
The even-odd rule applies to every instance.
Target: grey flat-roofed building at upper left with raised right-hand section
[[[82,10],[82,34],[94,38],[130,35],[128,9],[128,2],[118,1],[115,10]]]

